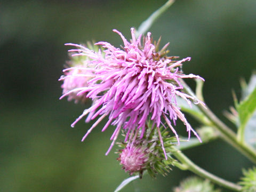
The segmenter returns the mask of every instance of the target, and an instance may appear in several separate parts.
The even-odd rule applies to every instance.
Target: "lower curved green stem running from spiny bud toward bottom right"
[[[242,190],[241,186],[236,185],[233,182],[226,181],[222,178],[217,177],[216,175],[213,175],[213,174],[205,171],[201,167],[199,167],[196,164],[194,164],[193,162],[191,162],[190,159],[186,155],[181,153],[181,151],[175,149],[174,147],[173,147],[173,149],[176,150],[176,152],[173,153],[173,155],[183,164],[182,168],[187,166],[187,170],[189,170],[203,178],[209,179],[210,181],[217,183],[218,185],[220,185],[222,187],[225,187],[225,188],[228,188],[228,189],[231,189],[234,191]]]

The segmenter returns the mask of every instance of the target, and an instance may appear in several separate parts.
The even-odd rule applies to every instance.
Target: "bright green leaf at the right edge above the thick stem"
[[[249,95],[247,95],[247,97],[242,102],[240,102],[237,107],[239,123],[240,123],[237,137],[238,137],[238,140],[241,142],[244,141],[246,125],[250,120],[250,118],[253,116],[255,109],[256,109],[256,87],[254,87],[254,90]],[[254,128],[252,130],[255,130],[255,124],[253,125],[252,128]]]

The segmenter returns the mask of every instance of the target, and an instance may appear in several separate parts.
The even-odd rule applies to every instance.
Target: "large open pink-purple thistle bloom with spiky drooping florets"
[[[92,77],[87,82],[88,86],[71,90],[61,97],[78,91],[77,96],[86,93],[86,97],[92,100],[97,99],[89,109],[84,110],[84,113],[71,124],[71,126],[74,126],[89,113],[94,115],[87,117],[87,121],[100,116],[84,135],[82,141],[107,116],[108,121],[102,131],[105,131],[110,124],[115,125],[116,129],[110,138],[113,142],[106,155],[113,147],[121,129],[126,132],[125,142],[137,130],[140,130],[140,138],[142,138],[146,131],[147,119],[153,121],[153,126],[156,125],[159,133],[159,126],[163,124],[161,117],[163,117],[179,142],[178,134],[171,123],[173,122],[175,125],[179,118],[187,127],[188,137],[190,137],[192,131],[199,139],[197,133],[180,111],[176,101],[176,97],[181,97],[191,105],[190,99],[196,99],[181,92],[183,86],[179,79],[200,78],[203,80],[202,77],[197,75],[184,75],[179,70],[182,63],[189,61],[190,58],[175,61],[177,57],[167,57],[165,49],[169,44],[158,51],[159,41],[154,45],[150,33],[147,34],[143,39],[144,43],[141,44],[141,35],[136,38],[133,28],[131,28],[132,39],[130,42],[116,29],[113,31],[121,36],[124,47],[119,49],[107,42],[96,43],[95,45],[101,45],[105,48],[105,57],[102,57],[101,51],[95,53],[82,45],[66,44],[77,47],[77,49],[69,50],[77,52],[73,56],[85,55],[91,59],[90,63],[95,66],[93,70],[91,68],[86,69],[89,72],[86,71],[86,74],[84,74],[89,73]],[[202,103],[201,101],[198,102]],[[160,134],[159,139],[163,147]]]

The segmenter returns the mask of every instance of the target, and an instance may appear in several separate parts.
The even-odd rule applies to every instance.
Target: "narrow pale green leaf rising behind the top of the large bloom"
[[[167,1],[158,10],[152,13],[149,18],[141,23],[139,26],[136,36],[146,33],[146,31],[153,25],[153,23],[174,3],[174,0]]]

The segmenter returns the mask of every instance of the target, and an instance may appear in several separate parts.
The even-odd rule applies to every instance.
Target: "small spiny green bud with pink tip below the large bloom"
[[[138,131],[130,141],[118,143],[123,149],[117,152],[119,153],[117,160],[130,175],[139,174],[140,178],[144,171],[147,171],[151,177],[155,177],[157,172],[166,175],[166,172],[171,170],[170,165],[175,161],[171,157],[171,147],[177,142],[175,137],[170,137],[163,127],[159,129],[164,143],[166,153],[164,154],[157,127],[151,129],[150,124],[151,122],[148,122],[146,134],[142,138]]]

